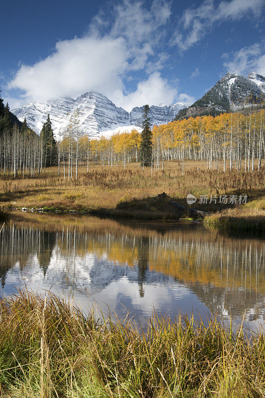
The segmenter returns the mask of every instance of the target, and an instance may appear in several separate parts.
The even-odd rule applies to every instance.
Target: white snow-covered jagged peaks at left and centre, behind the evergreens
[[[189,104],[177,102],[175,105],[151,106],[151,125],[163,124],[173,120],[179,109]],[[32,101],[21,108],[12,109],[12,112],[23,121],[26,118],[32,130],[40,132],[48,113],[55,135],[62,137],[69,125],[71,117],[78,110],[80,132],[89,136],[99,135],[106,130],[113,130],[123,126],[142,125],[143,107],[135,107],[128,113],[125,109],[117,107],[111,100],[102,94],[90,91],[76,100],[69,97],[59,97],[45,102]]]

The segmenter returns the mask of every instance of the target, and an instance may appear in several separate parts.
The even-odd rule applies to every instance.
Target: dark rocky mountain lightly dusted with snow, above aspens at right
[[[265,95],[265,78],[255,72],[248,78],[227,73],[201,99],[188,108],[181,109],[177,119],[190,116],[216,115],[236,110],[246,103],[257,103]]]

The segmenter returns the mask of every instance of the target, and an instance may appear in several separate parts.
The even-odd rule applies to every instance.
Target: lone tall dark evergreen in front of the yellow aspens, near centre
[[[140,161],[141,166],[151,166],[152,159],[152,132],[150,130],[150,118],[148,117],[148,112],[150,110],[149,105],[144,106],[144,117],[143,117],[143,131],[141,133],[140,142]]]

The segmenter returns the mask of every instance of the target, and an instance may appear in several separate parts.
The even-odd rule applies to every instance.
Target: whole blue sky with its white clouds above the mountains
[[[131,110],[200,98],[227,71],[265,75],[265,0],[5,1],[10,107],[89,90]]]

